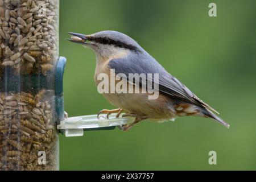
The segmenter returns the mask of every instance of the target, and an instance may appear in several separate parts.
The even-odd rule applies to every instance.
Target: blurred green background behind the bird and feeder
[[[208,16],[210,2],[217,17]],[[130,131],[60,137],[62,170],[256,169],[256,1],[61,0],[60,55],[69,116],[114,109],[98,94],[94,53],[67,32],[121,31],[155,57],[231,127],[184,117],[142,122]],[[210,166],[208,152],[217,152]]]

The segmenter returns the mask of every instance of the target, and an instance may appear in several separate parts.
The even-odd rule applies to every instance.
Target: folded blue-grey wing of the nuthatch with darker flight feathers
[[[159,92],[170,96],[173,100],[185,101],[218,113],[204,101],[200,100],[199,97],[193,94],[177,78],[168,73],[162,65],[146,52],[133,53],[122,58],[112,59],[109,61],[109,67],[110,69],[115,69],[116,74],[125,74],[126,79],[129,77],[129,73],[158,73]]]

